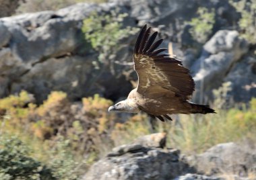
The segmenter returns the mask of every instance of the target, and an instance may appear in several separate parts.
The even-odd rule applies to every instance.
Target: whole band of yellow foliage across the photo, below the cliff
[[[39,107],[30,103],[30,98],[28,93],[22,91],[20,95],[0,99],[0,107],[7,110],[0,134],[29,134],[31,140],[49,142],[51,146],[54,146],[59,134],[69,140],[69,146],[75,153],[92,153],[92,159],[96,159],[95,154],[108,152],[113,144],[129,143],[154,132],[146,114],[135,114],[125,123],[117,123],[116,114],[107,111],[112,101],[99,95],[86,97],[77,106],[69,102],[67,94],[58,91],[51,93]],[[168,146],[187,152],[201,152],[220,142],[253,138],[255,111],[256,98],[253,98],[249,107],[222,109],[218,114],[178,116],[172,118],[174,122],[154,120],[154,123],[156,132],[167,133]],[[37,151],[43,153],[44,150]],[[35,155],[45,158],[42,154]]]

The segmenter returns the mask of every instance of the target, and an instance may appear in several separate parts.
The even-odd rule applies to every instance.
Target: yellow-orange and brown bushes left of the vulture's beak
[[[0,110],[5,111],[3,130],[21,136],[30,134],[50,144],[55,144],[59,136],[63,136],[69,140],[76,156],[94,156],[95,152],[104,154],[112,148],[108,134],[113,129],[116,116],[107,112],[112,101],[94,95],[84,98],[82,103],[71,103],[66,93],[53,91],[42,105],[37,106],[28,103],[30,96],[22,91],[20,95],[0,99]],[[103,142],[108,142],[104,148],[100,145]]]

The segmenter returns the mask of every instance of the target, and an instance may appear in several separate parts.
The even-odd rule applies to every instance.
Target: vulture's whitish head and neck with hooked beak
[[[132,100],[123,100],[115,105],[112,105],[108,107],[108,111],[123,111],[123,112],[129,112],[129,113],[137,113],[139,112],[139,108],[135,103],[133,103]]]

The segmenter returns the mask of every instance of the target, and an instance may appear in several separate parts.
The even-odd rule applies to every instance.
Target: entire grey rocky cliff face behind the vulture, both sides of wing
[[[194,46],[185,21],[196,16],[198,6],[216,9],[215,25],[204,46]],[[194,100],[209,100],[212,89],[231,81],[229,95],[234,101],[249,101],[256,96],[256,60],[249,44],[232,26],[238,13],[228,1],[111,1],[95,5],[79,3],[59,11],[42,11],[0,19],[0,97],[26,89],[41,102],[50,91],[65,91],[71,99],[100,93],[110,99],[126,96],[132,89],[128,75],[132,66],[119,66],[119,75],[105,71],[87,90],[98,75],[92,66],[96,53],[84,47],[82,20],[92,11],[102,13],[119,8],[128,13],[123,26],[150,24],[158,27],[161,38],[174,43],[174,54],[191,69],[196,82]],[[160,26],[164,25],[164,26]],[[226,30],[225,30],[226,29]],[[131,62],[136,36],[132,36],[117,60]],[[125,74],[125,75],[123,75]],[[115,88],[119,84],[120,88]],[[203,94],[203,95],[202,95]],[[203,96],[203,97],[202,97]]]

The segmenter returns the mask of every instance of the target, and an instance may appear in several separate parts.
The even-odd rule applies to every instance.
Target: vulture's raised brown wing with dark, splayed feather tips
[[[156,48],[163,40],[154,42],[158,32],[151,36],[150,32],[151,27],[143,26],[133,52],[134,69],[139,79],[137,92],[143,95],[150,87],[160,86],[188,99],[195,89],[189,70],[180,60],[170,58],[169,54],[160,54],[166,49]]]

